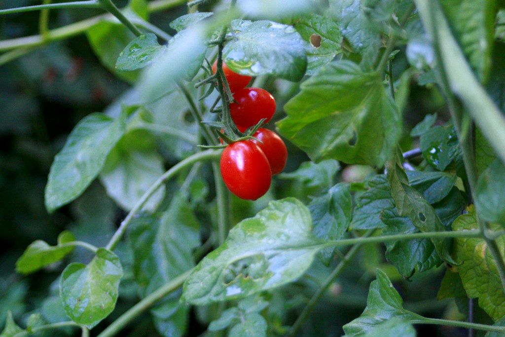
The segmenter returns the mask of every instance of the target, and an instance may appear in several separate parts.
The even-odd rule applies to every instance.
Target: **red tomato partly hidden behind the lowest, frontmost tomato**
[[[259,128],[254,136],[262,141],[260,143],[251,139],[267,157],[272,174],[281,173],[284,166],[286,166],[287,160],[287,149],[284,141],[274,131],[264,128]]]

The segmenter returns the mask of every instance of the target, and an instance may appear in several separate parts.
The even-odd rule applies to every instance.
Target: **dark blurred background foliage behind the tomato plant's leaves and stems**
[[[39,2],[0,0],[0,9],[35,4]],[[118,1],[116,4],[122,7],[126,2]],[[90,9],[54,10],[49,17],[49,28],[64,26],[101,13]],[[187,7],[181,5],[151,14],[150,21],[174,34],[169,23],[185,13]],[[0,40],[38,34],[38,16],[38,12],[0,16]],[[401,55],[405,54],[399,53],[395,59],[394,71],[397,74],[408,67]],[[259,80],[277,100],[278,111],[274,121],[282,118],[282,106],[297,92],[298,84],[268,77]],[[43,196],[49,167],[72,128],[84,116],[105,111],[130,85],[128,79],[119,78],[104,66],[103,59],[100,61],[96,56],[86,34],[37,47],[27,55],[0,66],[0,329],[8,310],[21,323],[35,311],[42,312],[47,320],[67,320],[59,304],[58,277],[69,261],[87,262],[90,258],[87,252],[78,248],[65,264],[57,263],[30,276],[22,276],[15,273],[15,262],[31,242],[42,239],[55,244],[58,233],[69,229],[77,239],[96,246],[103,245],[125,216],[126,213],[106,195],[104,187],[98,181],[92,183],[77,201],[51,215],[44,208]],[[435,88],[414,84],[410,92],[405,113],[406,129],[421,121],[428,113],[438,113],[439,123],[447,119],[443,100]],[[166,106],[165,109],[169,114],[169,107]],[[188,123],[191,124],[192,121],[189,120]],[[415,147],[410,143],[410,137],[406,137],[403,143],[406,150]],[[308,158],[289,143],[287,145],[289,162],[285,171],[289,172]],[[173,155],[177,151],[167,150],[170,142],[159,141],[157,146],[164,156],[165,168],[177,162],[179,156]],[[373,172],[371,168],[362,166],[343,166],[342,169],[335,181],[359,181]],[[200,170],[206,171],[209,170]],[[208,204],[209,209],[212,209],[212,177],[203,173],[200,175],[200,185],[195,188],[200,193],[202,204]],[[234,219],[239,221],[254,215],[271,199],[295,196],[307,202],[309,191],[313,188],[307,182],[296,179],[275,180],[274,186],[266,197],[255,203],[233,199]],[[202,221],[208,221],[206,212],[212,214],[209,209],[197,210]],[[407,309],[428,317],[462,318],[458,305],[460,310],[465,311],[468,303],[435,300],[444,266],[416,273],[411,280],[403,280],[385,262],[383,251],[384,247],[379,245],[369,245],[362,250],[331,287],[328,296],[320,302],[302,335],[340,336],[340,327],[357,317],[365,307],[368,285],[375,278],[377,266],[386,270],[394,280]],[[128,270],[128,248],[119,247],[119,255],[126,273],[117,309],[96,330],[107,326],[138,301]],[[283,297],[275,302],[283,306],[284,315],[278,322],[279,326],[293,322],[329,270],[331,269],[316,262],[306,277],[283,287]],[[206,314],[206,308],[193,310],[188,336],[197,336],[205,331]],[[475,315],[483,314],[476,309]],[[420,336],[456,337],[468,333],[465,329],[457,328],[417,328]],[[73,332],[77,333],[75,330],[60,330],[54,333],[52,331],[51,335],[71,335]],[[158,332],[146,314],[137,323],[130,324],[121,335],[154,336]]]

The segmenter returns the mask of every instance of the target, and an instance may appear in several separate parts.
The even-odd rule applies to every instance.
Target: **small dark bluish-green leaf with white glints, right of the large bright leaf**
[[[445,170],[459,155],[458,138],[452,126],[434,126],[421,135],[423,157],[439,171]]]

